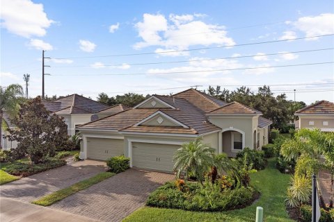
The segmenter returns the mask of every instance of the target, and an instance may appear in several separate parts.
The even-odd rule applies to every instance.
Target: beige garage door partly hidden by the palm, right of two
[[[173,171],[173,156],[180,145],[132,143],[132,166],[157,171]]]

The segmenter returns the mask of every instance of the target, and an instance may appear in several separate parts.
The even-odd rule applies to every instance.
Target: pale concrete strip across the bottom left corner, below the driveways
[[[23,203],[10,198],[0,197],[1,222],[90,222],[97,221],[86,216],[79,216],[49,207],[42,207],[31,203]]]

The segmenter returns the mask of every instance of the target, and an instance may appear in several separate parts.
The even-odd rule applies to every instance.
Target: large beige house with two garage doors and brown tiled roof
[[[234,157],[245,147],[268,144],[271,121],[241,103],[225,103],[196,89],[153,95],[132,109],[86,123],[81,158],[130,157],[130,167],[172,171],[184,142],[202,137],[216,153]]]

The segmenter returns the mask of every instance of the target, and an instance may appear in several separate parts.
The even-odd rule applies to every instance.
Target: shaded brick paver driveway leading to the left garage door
[[[63,167],[1,185],[0,196],[30,203],[32,200],[73,185],[105,170],[105,162],[93,160],[69,161]]]

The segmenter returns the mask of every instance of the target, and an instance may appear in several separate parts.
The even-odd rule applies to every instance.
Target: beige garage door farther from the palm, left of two
[[[94,160],[107,160],[124,154],[123,139],[87,137],[87,157]]]

